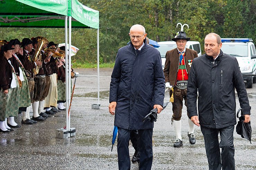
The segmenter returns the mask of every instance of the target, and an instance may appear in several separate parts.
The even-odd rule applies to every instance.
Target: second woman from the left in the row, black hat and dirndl
[[[33,124],[30,121],[30,115],[27,114],[26,110],[27,107],[30,106],[30,93],[29,93],[29,87],[28,87],[28,80],[27,76],[25,74],[25,68],[22,65],[22,62],[20,61],[19,57],[17,56],[17,53],[20,55],[23,55],[23,50],[20,48],[20,41],[18,39],[10,40],[9,44],[12,48],[12,58],[11,63],[15,69],[15,72],[19,73],[19,111],[22,112],[22,124]],[[8,119],[9,120],[9,119]],[[9,123],[10,124],[10,123]]]

